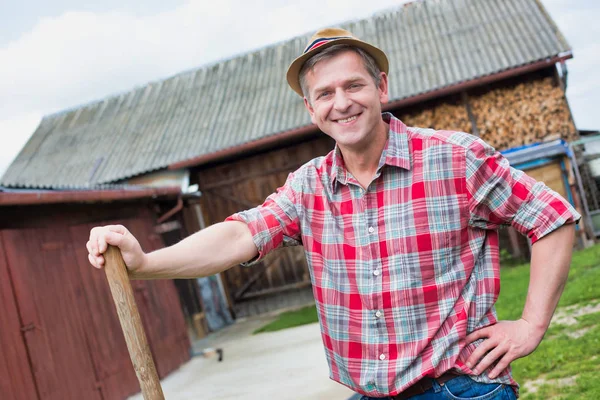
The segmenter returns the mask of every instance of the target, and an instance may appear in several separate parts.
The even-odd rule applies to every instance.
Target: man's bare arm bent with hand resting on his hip
[[[495,378],[542,341],[567,281],[574,237],[575,225],[563,225],[532,245],[529,290],[521,319],[500,321],[467,336],[467,343],[485,339],[466,362],[474,374],[497,362],[489,373]]]

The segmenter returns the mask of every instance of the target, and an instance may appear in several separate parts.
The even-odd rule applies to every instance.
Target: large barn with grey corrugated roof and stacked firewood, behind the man
[[[503,151],[579,138],[565,97],[573,53],[539,0],[422,0],[341,27],[388,54],[384,110],[408,125],[462,130]],[[311,34],[46,116],[0,184],[60,192],[183,182],[199,197],[165,206],[172,213],[160,225],[170,224],[171,240],[258,205],[289,172],[333,148],[285,82]],[[551,165],[548,176],[560,172],[578,205],[569,160],[528,172],[545,179],[536,169]],[[523,249],[511,235],[511,251]],[[298,248],[219,279],[237,318],[312,298]],[[201,314],[192,319],[201,324]]]

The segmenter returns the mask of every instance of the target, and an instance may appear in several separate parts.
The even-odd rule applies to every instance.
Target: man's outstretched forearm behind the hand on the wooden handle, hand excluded
[[[129,275],[132,279],[197,278],[222,272],[257,254],[246,224],[222,222],[146,254],[142,266]]]

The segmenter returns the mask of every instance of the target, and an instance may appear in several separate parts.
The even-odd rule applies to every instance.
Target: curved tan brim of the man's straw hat
[[[362,40],[353,39],[353,38],[343,38],[343,39],[331,40],[330,42],[327,42],[324,45],[321,45],[315,49],[312,49],[311,51],[309,51],[305,54],[302,54],[300,57],[298,57],[294,61],[292,61],[292,63],[288,67],[288,72],[287,72],[288,84],[294,90],[294,92],[296,92],[300,95],[300,97],[304,97],[304,94],[302,93],[302,87],[300,86],[300,70],[302,69],[302,66],[304,65],[304,63],[309,58],[314,56],[315,54],[320,53],[321,51],[325,50],[326,48],[331,47],[336,44],[348,44],[353,47],[358,47],[358,48],[363,49],[371,57],[373,57],[373,59],[377,63],[377,66],[379,67],[379,69],[382,72],[385,72],[386,74],[389,72],[388,58],[385,55],[385,53],[383,51],[381,51],[380,49],[378,49],[377,47],[370,45],[369,43],[365,43]]]

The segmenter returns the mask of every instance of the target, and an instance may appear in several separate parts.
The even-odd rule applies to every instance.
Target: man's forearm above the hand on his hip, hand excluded
[[[571,264],[575,225],[562,226],[532,246],[529,290],[522,318],[544,335],[562,294]]]

